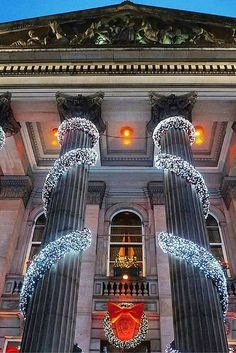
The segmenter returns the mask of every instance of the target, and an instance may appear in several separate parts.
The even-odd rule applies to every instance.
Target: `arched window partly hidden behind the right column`
[[[219,225],[217,220],[211,214],[209,214],[206,219],[206,227],[212,254],[221,263],[227,263],[225,247],[220,234]]]

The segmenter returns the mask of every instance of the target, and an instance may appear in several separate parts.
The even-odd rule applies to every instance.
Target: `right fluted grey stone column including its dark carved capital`
[[[181,116],[191,120],[196,95],[151,94],[149,131],[161,120]],[[193,164],[187,134],[171,128],[161,138],[161,152]],[[201,203],[194,187],[180,176],[164,173],[167,230],[209,250]],[[212,281],[193,266],[170,257],[175,346],[181,352],[227,352],[223,315]]]

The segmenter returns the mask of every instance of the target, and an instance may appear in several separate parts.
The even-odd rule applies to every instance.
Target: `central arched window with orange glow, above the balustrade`
[[[108,275],[144,275],[143,226],[132,211],[117,213],[110,224]]]

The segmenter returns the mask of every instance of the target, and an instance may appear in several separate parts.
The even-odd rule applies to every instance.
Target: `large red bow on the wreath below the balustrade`
[[[121,308],[118,304],[108,303],[110,320],[114,324],[121,316],[131,317],[137,324],[140,324],[143,315],[144,304],[134,304],[129,308]]]

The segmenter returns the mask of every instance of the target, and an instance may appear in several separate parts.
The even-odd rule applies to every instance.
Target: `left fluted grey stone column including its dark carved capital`
[[[99,131],[101,93],[70,97],[57,94],[61,120],[74,117],[92,120]],[[92,146],[83,129],[69,130],[60,156],[76,148]],[[83,230],[89,166],[73,166],[60,177],[49,202],[43,246],[75,230]],[[44,275],[29,303],[22,352],[72,352],[74,346],[81,253],[69,253]],[[79,342],[78,342],[79,343]]]

